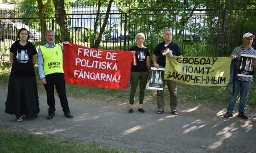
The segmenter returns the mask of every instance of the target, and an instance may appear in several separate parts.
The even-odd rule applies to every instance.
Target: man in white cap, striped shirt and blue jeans
[[[227,112],[224,117],[229,118],[233,116],[234,107],[236,105],[238,94],[240,93],[240,101],[239,101],[239,108],[238,108],[238,116],[248,119],[249,117],[245,114],[245,106],[247,103],[247,96],[249,94],[250,85],[253,81],[253,78],[246,77],[246,76],[237,76],[238,69],[240,67],[240,58],[241,54],[248,54],[256,56],[256,51],[251,47],[253,43],[253,38],[255,36],[250,32],[247,32],[243,35],[243,44],[235,48],[230,55],[232,60],[236,60],[236,80],[233,84],[234,86],[234,94],[229,97],[229,105],[227,108]],[[256,63],[253,63],[253,68],[256,68]]]

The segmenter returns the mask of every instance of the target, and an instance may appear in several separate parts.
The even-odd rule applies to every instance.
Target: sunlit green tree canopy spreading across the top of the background
[[[255,33],[255,1],[19,1],[19,9],[23,10],[22,16],[24,22],[27,22],[26,18],[38,16],[42,35],[51,24],[51,22],[46,22],[46,20],[50,20],[50,18],[55,19],[57,25],[51,24],[51,27],[60,32],[60,41],[70,39],[68,15],[72,14],[71,8],[93,7],[94,10],[97,10],[96,17],[93,19],[93,32],[90,35],[90,46],[93,48],[99,47],[106,27],[109,26],[109,18],[110,14],[112,14],[111,8],[113,5],[118,6],[120,13],[127,15],[120,16],[121,23],[126,28],[125,30],[129,31],[129,34],[132,36],[134,36],[135,33],[144,32],[147,35],[148,44],[149,46],[152,45],[152,48],[155,46],[154,43],[160,40],[160,31],[163,31],[164,28],[171,28],[174,32],[174,39],[179,43],[185,40],[186,32],[189,32],[189,35],[193,33],[193,35],[200,35],[207,38],[208,44],[212,41],[212,43],[224,45],[216,45],[215,56],[217,56],[217,52],[219,52],[218,50],[221,50],[221,48],[230,48],[229,46],[231,44],[237,45],[241,43],[241,40],[239,42],[237,41],[239,35],[236,37],[235,34],[248,31]],[[36,12],[36,10],[38,10],[38,12]],[[222,35],[222,33],[229,33],[230,35]],[[183,46],[183,44],[179,45]]]

